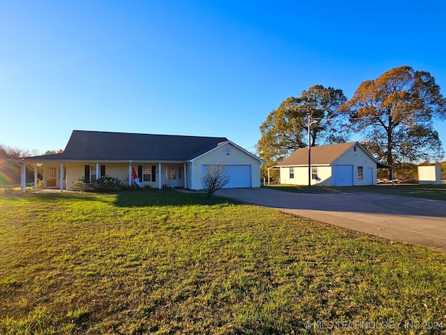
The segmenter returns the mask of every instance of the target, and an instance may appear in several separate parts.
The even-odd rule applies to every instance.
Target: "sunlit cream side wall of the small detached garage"
[[[332,177],[331,166],[312,166],[318,169],[318,179],[312,179],[312,185],[330,186]],[[295,166],[294,178],[290,179],[290,168],[280,168],[280,184],[308,185],[308,167]]]

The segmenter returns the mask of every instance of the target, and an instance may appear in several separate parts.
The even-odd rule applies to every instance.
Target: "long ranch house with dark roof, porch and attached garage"
[[[22,162],[43,165],[43,187],[61,191],[70,190],[73,181],[81,178],[92,181],[105,175],[131,185],[132,174],[137,174],[142,186],[199,190],[206,168],[213,164],[228,171],[231,179],[226,188],[260,187],[264,163],[226,137],[102,131],[73,131],[61,154],[27,157]]]

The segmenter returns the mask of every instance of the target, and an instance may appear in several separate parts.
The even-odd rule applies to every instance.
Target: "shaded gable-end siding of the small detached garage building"
[[[356,151],[354,150],[356,147]],[[360,146],[353,146],[332,165],[352,165],[353,166],[353,186],[363,186],[369,184],[368,181],[372,181],[373,185],[376,185],[376,162],[362,150]],[[362,179],[358,179],[357,168],[362,166]],[[372,176],[369,174],[372,173]],[[336,178],[334,176],[334,178]],[[333,181],[334,182],[334,181]]]

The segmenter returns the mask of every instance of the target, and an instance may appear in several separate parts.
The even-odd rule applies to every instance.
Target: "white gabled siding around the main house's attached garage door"
[[[224,147],[230,146],[232,151],[224,152]],[[260,162],[258,159],[249,156],[237,147],[231,144],[222,145],[208,154],[197,158],[190,166],[192,170],[192,183],[189,188],[193,190],[201,190],[202,167],[203,165],[223,164],[223,165],[251,165],[251,187],[260,187]]]

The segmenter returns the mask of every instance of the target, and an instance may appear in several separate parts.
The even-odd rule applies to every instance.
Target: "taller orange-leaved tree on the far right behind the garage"
[[[340,107],[365,146],[393,165],[443,156],[433,119],[445,119],[446,101],[430,73],[399,66],[360,84]]]

